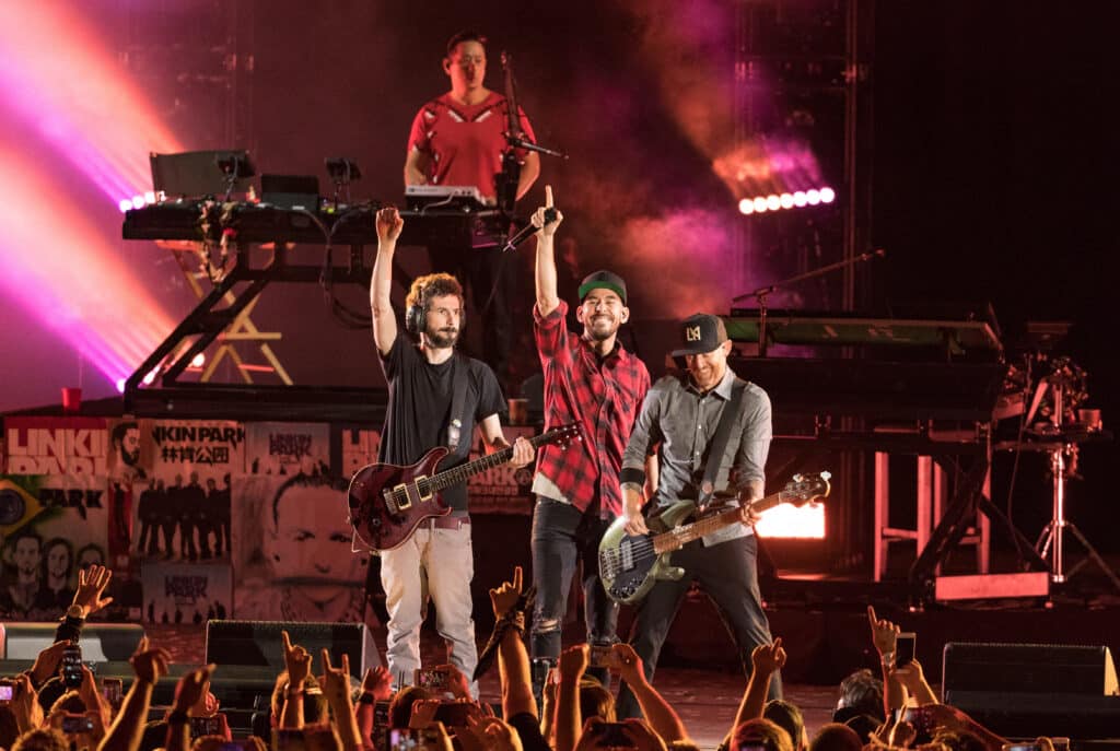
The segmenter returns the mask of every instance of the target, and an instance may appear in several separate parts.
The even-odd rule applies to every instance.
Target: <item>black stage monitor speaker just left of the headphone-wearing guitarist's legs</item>
[[[318,661],[324,648],[329,650],[335,667],[342,664],[344,654],[349,655],[351,674],[358,679],[367,669],[381,665],[381,656],[365,623],[292,621],[212,620],[206,623],[206,661],[218,666],[267,666],[274,676],[284,669],[281,631],[288,631],[292,644],[311,654],[317,675],[323,672]]]

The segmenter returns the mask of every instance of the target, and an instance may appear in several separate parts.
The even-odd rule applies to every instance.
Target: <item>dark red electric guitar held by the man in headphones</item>
[[[545,443],[568,445],[579,440],[579,428],[563,425],[529,439],[534,449]],[[358,539],[376,551],[389,551],[408,539],[427,518],[451,513],[439,491],[467,478],[504,464],[513,448],[502,449],[442,472],[437,464],[447,456],[438,447],[408,467],[367,464],[354,472],[349,486],[351,524]]]

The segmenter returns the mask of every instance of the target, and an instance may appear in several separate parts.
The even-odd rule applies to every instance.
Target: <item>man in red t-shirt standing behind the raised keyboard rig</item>
[[[475,186],[484,200],[497,198],[495,176],[506,150],[506,98],[486,88],[486,37],[460,31],[447,43],[444,73],[451,90],[427,102],[412,121],[404,160],[404,185]],[[533,141],[533,129],[519,110],[520,129]],[[515,151],[521,165],[516,197],[521,198],[541,172],[540,157]],[[508,270],[498,247],[430,245],[432,271],[445,271],[470,287],[475,310],[486,323],[483,357],[500,378],[508,376],[511,322],[507,311]]]

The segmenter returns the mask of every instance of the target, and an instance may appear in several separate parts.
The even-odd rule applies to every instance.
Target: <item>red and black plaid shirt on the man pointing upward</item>
[[[567,448],[545,445],[538,452],[536,471],[581,511],[598,496],[599,515],[613,518],[623,513],[618,470],[650,391],[650,372],[622,345],[600,362],[589,342],[568,331],[567,313],[563,300],[544,317],[533,307],[544,369],[544,429],[575,423],[584,440]]]

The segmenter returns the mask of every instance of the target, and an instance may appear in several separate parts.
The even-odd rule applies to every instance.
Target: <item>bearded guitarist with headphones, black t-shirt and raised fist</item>
[[[432,448],[446,445],[450,453],[440,464],[444,470],[467,461],[475,424],[488,452],[510,445],[498,421],[505,400],[489,367],[455,351],[463,327],[463,288],[454,276],[429,274],[412,283],[405,325],[417,342],[400,336],[390,290],[393,253],[403,227],[395,208],[377,213],[370,308],[373,340],[389,383],[377,459],[407,466]],[[534,453],[532,444],[519,438],[510,463],[524,467]],[[441,496],[451,507],[450,515],[423,522],[403,544],[381,553],[381,583],[389,610],[386,657],[398,688],[411,685],[420,667],[420,626],[428,595],[436,603],[448,663],[470,676],[478,660],[470,616],[474,557],[467,489],[454,486]],[[477,686],[472,689],[477,694]]]

